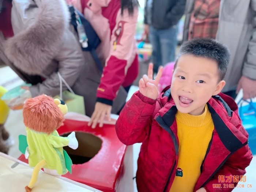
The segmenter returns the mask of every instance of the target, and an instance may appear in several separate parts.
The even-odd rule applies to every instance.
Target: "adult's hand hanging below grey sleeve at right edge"
[[[243,89],[244,100],[256,97],[256,80],[241,76],[236,93],[238,93],[240,89]]]

